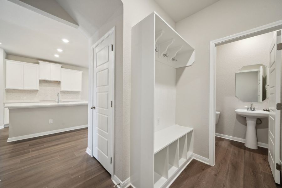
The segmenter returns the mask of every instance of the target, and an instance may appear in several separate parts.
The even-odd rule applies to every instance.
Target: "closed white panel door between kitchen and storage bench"
[[[112,174],[113,34],[93,49],[93,156]]]

